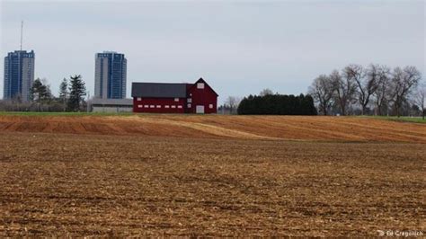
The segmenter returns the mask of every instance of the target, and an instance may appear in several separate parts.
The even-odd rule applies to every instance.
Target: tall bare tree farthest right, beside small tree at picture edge
[[[417,86],[421,73],[415,66],[405,66],[404,69],[396,67],[390,80],[390,99],[394,102],[396,115],[400,117],[403,102],[407,100],[408,95]]]

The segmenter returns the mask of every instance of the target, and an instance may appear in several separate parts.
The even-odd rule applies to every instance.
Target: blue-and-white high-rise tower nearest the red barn
[[[124,54],[104,51],[95,56],[94,97],[100,99],[125,99],[127,59]]]

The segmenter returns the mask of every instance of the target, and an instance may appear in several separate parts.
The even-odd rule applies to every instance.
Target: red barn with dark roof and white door
[[[202,78],[194,84],[132,83],[133,112],[217,113],[218,94]]]

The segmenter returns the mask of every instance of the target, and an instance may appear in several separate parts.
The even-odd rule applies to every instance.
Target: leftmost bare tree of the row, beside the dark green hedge
[[[332,104],[333,98],[333,83],[328,75],[319,75],[315,78],[311,86],[309,86],[308,93],[318,103],[319,110],[327,115],[328,109]]]

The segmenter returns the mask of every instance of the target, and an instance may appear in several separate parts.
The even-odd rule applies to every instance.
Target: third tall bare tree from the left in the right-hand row
[[[352,65],[349,66],[349,74],[352,75],[355,83],[357,84],[357,98],[361,106],[361,114],[364,115],[367,111],[368,103],[370,102],[371,95],[377,91],[380,66],[371,64],[367,69],[362,66]]]

